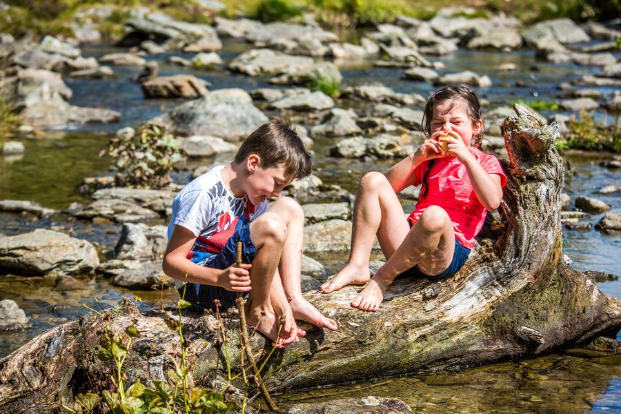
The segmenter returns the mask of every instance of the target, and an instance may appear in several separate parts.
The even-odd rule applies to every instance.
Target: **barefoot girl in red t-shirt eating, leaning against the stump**
[[[321,287],[323,293],[331,293],[368,282],[351,302],[362,311],[377,311],[386,288],[401,273],[438,278],[457,273],[486,210],[500,206],[506,176],[496,157],[479,149],[483,119],[479,99],[469,86],[451,85],[435,92],[425,104],[422,129],[428,138],[414,154],[386,175],[368,172],[360,180],[348,263]],[[420,184],[419,201],[406,219],[397,193]],[[369,281],[368,260],[376,235],[386,264]]]

